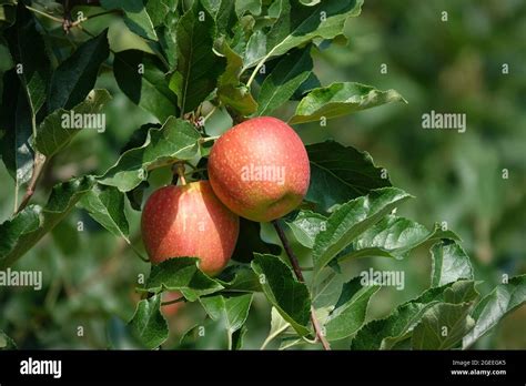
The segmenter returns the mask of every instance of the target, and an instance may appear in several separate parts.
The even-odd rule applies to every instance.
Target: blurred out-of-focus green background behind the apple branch
[[[90,24],[93,31],[111,22],[114,50],[136,47],[138,38],[124,33],[117,19],[98,22]],[[416,196],[398,213],[428,228],[447,222],[461,235],[474,262],[475,278],[486,281],[481,292],[500,283],[503,274],[526,273],[526,2],[367,0],[362,16],[348,21],[346,37],[347,42],[338,40],[316,50],[315,72],[322,84],[356,81],[393,88],[408,104],[372,109],[328,121],[326,126],[299,125],[305,143],[331,138],[371,153],[377,165],[388,170],[394,185]],[[505,64],[508,73],[503,73]],[[104,171],[117,161],[133,130],[155,122],[122,94],[110,70],[105,71],[97,87],[113,95],[105,110],[107,131],[79,134],[53,160],[34,202],[44,202],[58,181]],[[284,106],[276,115],[290,116],[293,109]],[[423,130],[422,114],[431,110],[465,113],[466,132]],[[210,133],[218,133],[230,122],[215,114],[209,125]],[[154,185],[166,180],[163,173],[152,176]],[[12,213],[14,192],[3,164],[0,179],[3,220]],[[139,238],[140,214],[131,209],[128,213],[131,234]],[[269,231],[263,227],[269,240],[275,241]],[[300,245],[295,248],[304,252]],[[431,258],[424,248],[403,262],[363,260],[345,270],[352,275],[370,266],[404,270],[406,278],[404,291],[383,288],[375,295],[371,316],[386,315],[429,284]],[[16,268],[41,270],[44,280],[39,292],[0,290],[0,328],[19,347],[135,347],[124,322],[139,298],[134,293],[138,277],[148,275],[149,266],[87,214],[71,213]],[[179,347],[181,334],[202,323],[204,312],[196,304],[185,304],[169,318],[173,336],[165,347]],[[270,308],[262,296],[254,299],[247,327],[245,348],[259,348],[270,327]],[[220,346],[218,335],[188,347]],[[476,348],[526,348],[526,307],[506,317]]]

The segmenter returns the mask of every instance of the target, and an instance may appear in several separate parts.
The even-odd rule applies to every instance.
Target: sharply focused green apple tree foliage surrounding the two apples
[[[47,202],[24,196],[0,225],[0,268],[36,247],[74,207],[143,254],[131,240],[124,209],[141,211],[155,169],[186,162],[196,170],[190,179],[205,177],[213,114],[227,114],[233,123],[275,115],[301,134],[306,122],[331,124],[333,118],[406,102],[394,90],[347,80],[321,84],[316,78],[313,55],[347,39],[344,27],[360,16],[362,2],[101,0],[64,9],[52,1],[0,1],[0,149],[20,192],[32,193],[42,169],[82,130],[63,128],[63,114],[97,114],[111,100],[108,90],[95,88],[101,72],[111,72],[122,93],[153,120],[136,129],[104,173],[60,182]],[[90,18],[99,13],[120,19],[120,28],[142,44],[115,51],[108,29],[89,31]],[[62,33],[50,33],[50,23],[58,22]],[[69,38],[73,32],[75,41]],[[195,256],[151,267],[128,324],[143,347],[156,348],[169,336],[161,314],[166,291],[180,292],[180,301],[196,302],[206,314],[183,335],[181,347],[205,341],[201,328],[214,328],[225,337],[215,348],[231,349],[243,348],[251,334],[245,322],[255,296],[272,305],[262,346],[272,342],[283,349],[322,347],[313,318],[328,345],[343,341],[351,349],[467,348],[525,303],[525,276],[504,280],[482,296],[454,232],[396,215],[415,199],[393,186],[368,153],[334,141],[306,149],[308,192],[301,209],[279,220],[292,248],[307,251],[301,261],[305,280],[283,245],[263,236],[264,224],[242,220],[233,261],[219,276],[202,273]],[[371,317],[368,305],[383,283],[348,277],[345,266],[356,258],[411,258],[417,247],[427,248],[433,262],[429,287],[393,305],[388,316]],[[2,347],[14,342],[0,332]]]

